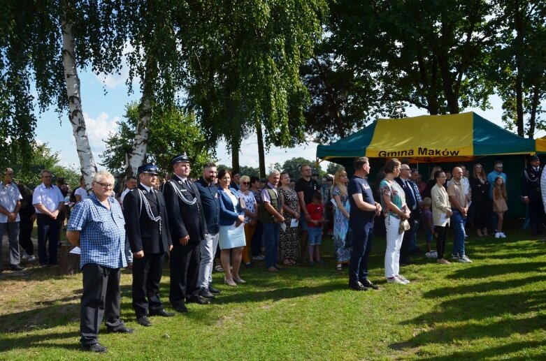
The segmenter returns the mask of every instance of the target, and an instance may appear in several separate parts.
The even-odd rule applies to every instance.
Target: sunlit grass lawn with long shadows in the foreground
[[[328,238],[326,265],[279,274],[243,269],[247,283],[237,288],[215,273],[222,294],[213,304],[151,317],[152,327],[135,321],[132,277],[124,270],[122,318],[136,332],[106,334],[103,327],[106,355],[79,351],[80,274],[36,266],[4,272],[0,360],[545,360],[546,243],[515,229],[506,233],[505,240],[471,235],[472,264],[415,256],[401,269],[408,286],[385,283],[385,240],[375,237],[370,279],[380,290],[366,292],[347,288]],[[168,301],[167,268],[161,287]]]

